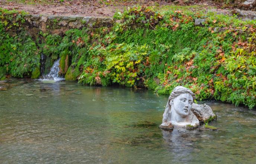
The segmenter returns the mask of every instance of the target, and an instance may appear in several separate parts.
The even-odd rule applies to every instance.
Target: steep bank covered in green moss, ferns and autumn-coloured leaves
[[[39,33],[39,42],[25,35],[20,26],[12,35],[9,29],[14,27],[8,29],[8,21],[3,20],[22,15],[15,14],[3,10],[0,14],[0,50],[5,50],[1,78],[30,77],[40,65],[40,52],[47,56],[46,65],[61,58],[60,73],[83,84],[144,86],[158,94],[170,94],[182,85],[199,100],[217,99],[249,108],[256,104],[255,21],[186,10],[159,13],[138,6],[116,13],[114,19],[121,21],[113,27],[71,29],[63,36]],[[195,26],[195,19],[203,22],[201,26]],[[8,37],[3,35],[6,32]],[[26,43],[32,46],[24,51]],[[25,58],[25,63],[19,58]],[[24,66],[28,61],[29,67]],[[25,71],[14,71],[17,63]]]

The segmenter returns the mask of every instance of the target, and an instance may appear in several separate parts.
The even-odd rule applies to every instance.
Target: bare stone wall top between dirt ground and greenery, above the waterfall
[[[69,29],[112,27],[112,17],[26,15],[25,28],[61,35]]]

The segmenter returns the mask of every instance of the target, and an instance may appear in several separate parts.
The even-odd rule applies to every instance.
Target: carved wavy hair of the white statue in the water
[[[195,94],[190,89],[185,88],[183,86],[176,86],[173,89],[172,93],[170,94],[168,102],[166,104],[165,111],[163,114],[163,122],[167,122],[167,119],[169,118],[169,112],[171,109],[170,101],[179,96],[180,94],[190,94],[193,97],[193,100],[196,98]]]

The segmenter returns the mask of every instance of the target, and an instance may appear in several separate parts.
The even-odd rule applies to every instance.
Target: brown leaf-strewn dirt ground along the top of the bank
[[[234,14],[234,10],[221,9],[220,3],[214,3],[211,0],[191,0],[189,3],[184,3],[184,1],[188,0],[0,0],[0,7],[9,10],[23,10],[30,14],[113,16],[116,11],[122,12],[124,8],[136,5],[156,6],[159,9],[171,5],[198,5],[198,7],[188,9],[193,12],[204,9],[218,14]],[[239,10],[235,13],[245,19],[256,19],[256,12]]]

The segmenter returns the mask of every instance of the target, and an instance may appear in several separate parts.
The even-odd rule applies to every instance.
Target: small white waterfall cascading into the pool
[[[51,68],[51,71],[48,73],[48,75],[43,76],[44,79],[42,80],[54,80],[54,81],[62,81],[65,80],[65,78],[61,78],[59,76],[60,71],[60,59],[56,60]]]

